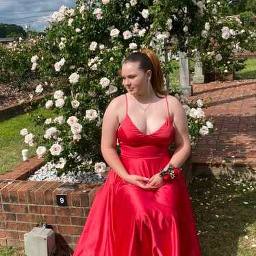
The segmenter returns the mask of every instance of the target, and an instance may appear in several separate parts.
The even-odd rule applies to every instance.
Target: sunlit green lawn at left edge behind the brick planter
[[[44,107],[32,112],[34,114],[44,114],[44,116],[51,115],[51,111]],[[43,133],[42,127],[35,127],[30,117],[31,114],[26,113],[0,123],[0,173],[10,170],[22,162],[22,149],[29,149],[30,156],[36,153],[36,146],[31,147],[25,144],[23,136],[20,135],[23,128],[27,128],[35,136]]]

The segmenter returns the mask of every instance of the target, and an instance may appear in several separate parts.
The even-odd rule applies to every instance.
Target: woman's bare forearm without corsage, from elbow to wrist
[[[127,170],[125,170],[125,166],[123,166],[123,163],[120,160],[120,157],[118,156],[118,153],[116,153],[115,149],[101,149],[101,153],[105,159],[105,162],[116,172],[116,174],[121,179],[126,179],[129,176],[129,173]]]

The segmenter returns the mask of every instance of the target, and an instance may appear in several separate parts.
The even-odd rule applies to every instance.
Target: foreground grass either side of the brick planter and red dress
[[[252,181],[192,180],[190,196],[203,256],[256,255],[255,190]],[[23,256],[22,251],[0,247],[2,255]]]

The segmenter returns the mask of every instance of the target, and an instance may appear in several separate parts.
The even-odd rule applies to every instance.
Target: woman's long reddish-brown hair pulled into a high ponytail
[[[168,94],[167,90],[164,90],[164,76],[157,55],[150,49],[144,49],[135,53],[131,53],[129,56],[125,57],[122,64],[127,62],[139,62],[140,68],[144,72],[151,71],[151,84],[155,94],[157,95],[166,95]]]

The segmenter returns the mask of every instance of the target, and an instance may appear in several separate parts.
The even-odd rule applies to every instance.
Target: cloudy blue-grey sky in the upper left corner
[[[53,12],[60,6],[75,7],[75,0],[0,0],[0,23],[30,25],[44,31]]]

